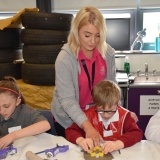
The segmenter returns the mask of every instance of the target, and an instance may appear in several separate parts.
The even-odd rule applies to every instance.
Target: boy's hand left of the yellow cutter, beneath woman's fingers
[[[76,140],[76,143],[81,146],[86,152],[94,148],[93,140],[91,138],[79,137]]]

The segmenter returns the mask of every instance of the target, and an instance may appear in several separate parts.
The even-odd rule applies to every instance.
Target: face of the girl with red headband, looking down
[[[4,118],[9,118],[14,112],[16,106],[20,104],[20,99],[16,99],[8,93],[0,94],[0,114]]]

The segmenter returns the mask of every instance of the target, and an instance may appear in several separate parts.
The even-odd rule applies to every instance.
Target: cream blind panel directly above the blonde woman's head
[[[94,6],[98,9],[136,8],[137,0],[51,0],[52,11],[73,11],[84,6]]]

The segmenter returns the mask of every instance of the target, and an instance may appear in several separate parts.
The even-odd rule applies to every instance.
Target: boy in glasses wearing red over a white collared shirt
[[[84,111],[87,118],[103,138],[105,154],[134,145],[142,140],[138,128],[128,110],[118,105],[121,97],[119,86],[112,81],[100,81],[92,91],[95,106]],[[85,132],[76,123],[65,130],[66,139],[78,144],[85,151],[94,148],[93,140],[85,138]]]

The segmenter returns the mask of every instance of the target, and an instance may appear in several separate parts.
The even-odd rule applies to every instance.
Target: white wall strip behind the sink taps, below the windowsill
[[[144,72],[145,63],[148,63],[149,72],[152,72],[156,68],[157,72],[160,72],[160,53],[156,54],[126,54],[130,60],[130,71],[137,72],[141,68],[141,72]],[[123,70],[125,58],[116,58],[116,67],[119,70]]]

